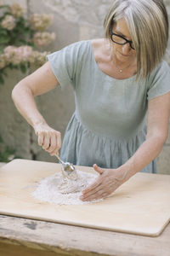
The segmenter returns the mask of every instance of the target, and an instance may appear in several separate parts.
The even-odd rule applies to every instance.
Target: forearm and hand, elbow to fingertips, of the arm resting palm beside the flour
[[[94,165],[94,170],[99,172],[99,177],[88,188],[82,191],[81,200],[91,201],[111,195],[118,187],[125,183],[136,172],[144,169],[150,161],[154,160],[161,152],[163,139],[150,137],[139,147],[127,162],[116,169],[102,169]]]

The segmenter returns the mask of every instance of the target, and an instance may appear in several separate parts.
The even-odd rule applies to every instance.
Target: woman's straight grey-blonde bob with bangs
[[[111,26],[124,18],[137,55],[137,79],[145,79],[161,62],[167,49],[168,17],[163,0],[114,0],[105,16],[105,38]]]

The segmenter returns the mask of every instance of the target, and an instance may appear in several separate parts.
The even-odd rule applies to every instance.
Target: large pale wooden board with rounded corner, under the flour
[[[170,220],[170,176],[137,173],[111,197],[87,205],[59,206],[32,197],[37,183],[60,165],[13,160],[0,169],[0,213],[100,230],[159,236]],[[78,166],[84,172],[93,168]]]

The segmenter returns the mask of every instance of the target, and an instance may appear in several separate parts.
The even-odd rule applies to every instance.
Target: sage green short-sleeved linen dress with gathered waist
[[[61,87],[71,84],[76,102],[65,131],[60,157],[74,165],[122,166],[144,143],[148,101],[170,90],[166,61],[143,82],[114,79],[103,73],[90,40],[48,55]],[[156,160],[142,172],[156,172]]]

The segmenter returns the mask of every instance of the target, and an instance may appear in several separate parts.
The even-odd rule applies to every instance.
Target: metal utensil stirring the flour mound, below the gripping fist
[[[69,162],[64,162],[63,160],[60,159],[58,154],[55,154],[59,162],[62,164],[62,172],[63,176],[68,177],[70,179],[77,179],[77,170],[75,169],[75,166]]]

